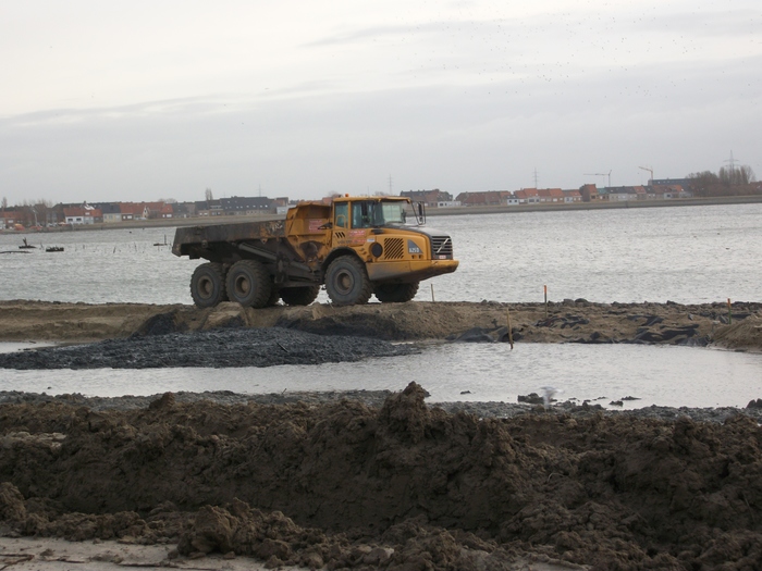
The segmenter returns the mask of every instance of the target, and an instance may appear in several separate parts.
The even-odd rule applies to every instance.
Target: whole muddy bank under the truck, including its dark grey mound
[[[760,303],[372,303],[265,310],[0,302],[0,339],[66,346],[0,353],[0,369],[270,367],[406,355],[390,342],[639,343],[762,350]],[[733,321],[735,320],[735,323]],[[508,333],[508,321],[511,333]],[[102,339],[97,343],[87,343]],[[74,345],[69,345],[74,344]]]

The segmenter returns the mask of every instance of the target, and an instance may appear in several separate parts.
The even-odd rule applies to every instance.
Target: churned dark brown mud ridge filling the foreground
[[[0,406],[0,527],[330,569],[758,569],[762,433],[603,414]]]

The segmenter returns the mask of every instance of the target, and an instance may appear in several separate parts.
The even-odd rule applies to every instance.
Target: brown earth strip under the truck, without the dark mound
[[[471,328],[507,340],[511,320],[519,343],[655,343],[762,350],[759,328],[743,320],[758,315],[760,303],[733,305],[733,333],[725,303],[549,303],[409,302],[355,307],[279,306],[244,309],[222,303],[193,306],[139,303],[51,303],[0,301],[0,340],[83,342],[127,337],[136,332],[198,331],[225,325],[282,326],[318,334],[361,335],[386,340],[457,337]],[[759,321],[754,322],[759,325]],[[158,328],[158,331],[157,331]]]

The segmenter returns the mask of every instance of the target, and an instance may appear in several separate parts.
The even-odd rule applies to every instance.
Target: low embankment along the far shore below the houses
[[[761,203],[762,196],[732,196],[732,197],[710,197],[710,198],[673,198],[667,200],[626,200],[620,202],[565,202],[565,203],[538,203],[521,206],[484,206],[484,207],[446,207],[428,208],[427,216],[456,216],[462,214],[518,214],[520,212],[558,212],[568,210],[607,210],[607,209],[629,209],[629,208],[668,208],[668,207],[706,207],[722,204],[754,204]],[[192,219],[161,219],[161,220],[136,220],[132,222],[77,224],[72,227],[45,228],[42,231],[0,231],[0,234],[48,234],[58,232],[82,232],[97,229],[119,229],[119,228],[168,228],[176,226],[199,226],[210,224],[230,224],[237,222],[261,222],[267,220],[283,220],[284,214],[255,214],[250,216],[197,216]]]

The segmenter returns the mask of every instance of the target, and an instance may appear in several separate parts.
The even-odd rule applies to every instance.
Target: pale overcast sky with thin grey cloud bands
[[[0,199],[762,177],[759,0],[0,0]]]

